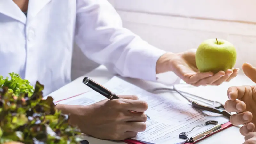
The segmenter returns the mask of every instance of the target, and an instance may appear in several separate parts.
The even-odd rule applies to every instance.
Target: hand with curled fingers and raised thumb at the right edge
[[[243,64],[243,71],[256,83],[256,68],[248,63]],[[245,124],[240,128],[242,135],[255,131],[256,124],[256,86],[230,87],[227,92],[229,100],[225,109],[229,112],[238,112],[230,117],[233,125]]]

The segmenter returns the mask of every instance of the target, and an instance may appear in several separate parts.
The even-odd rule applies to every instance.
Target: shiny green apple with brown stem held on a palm
[[[236,63],[236,49],[233,44],[223,39],[203,41],[196,50],[196,66],[200,72],[232,69]]]

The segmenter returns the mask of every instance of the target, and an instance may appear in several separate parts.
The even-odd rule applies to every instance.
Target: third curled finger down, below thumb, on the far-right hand
[[[252,120],[252,113],[247,111],[240,114],[234,114],[230,116],[231,124],[238,126],[241,124],[246,124]]]

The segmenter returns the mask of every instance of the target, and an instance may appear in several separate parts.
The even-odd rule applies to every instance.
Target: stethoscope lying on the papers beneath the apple
[[[180,91],[180,90],[176,89],[175,85],[173,85],[172,87],[173,88],[164,88],[164,87],[155,88],[152,91],[153,92],[159,91],[159,90],[175,91],[175,92],[179,93],[183,98],[188,100],[188,102],[192,104],[192,107],[210,111],[213,113],[222,114],[222,115],[226,116],[228,119],[230,118],[231,113],[229,113],[228,111],[225,110],[224,105],[222,103],[220,103],[218,101],[209,100],[209,99],[206,99],[206,98],[194,95],[194,94],[190,94],[188,92]],[[193,99],[200,101],[204,104],[200,104],[194,100],[189,99],[188,96],[185,96],[185,94],[191,98],[193,97]],[[206,105],[208,105],[208,106],[206,106]]]

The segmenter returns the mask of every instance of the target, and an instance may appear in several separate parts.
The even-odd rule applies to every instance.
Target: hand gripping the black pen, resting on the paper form
[[[99,139],[124,140],[145,131],[147,116],[144,112],[148,106],[134,95],[120,98],[102,100],[89,106],[65,105],[66,108],[60,109],[64,109],[64,112],[66,109],[66,113],[72,111],[70,123],[77,125],[87,135]],[[60,104],[57,106],[61,107]]]

